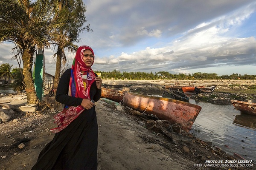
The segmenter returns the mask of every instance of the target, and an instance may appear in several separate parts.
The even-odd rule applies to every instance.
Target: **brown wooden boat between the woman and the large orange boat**
[[[113,100],[115,102],[121,102],[124,98],[124,91],[114,90],[110,88],[103,88],[102,87],[102,94],[101,97]]]

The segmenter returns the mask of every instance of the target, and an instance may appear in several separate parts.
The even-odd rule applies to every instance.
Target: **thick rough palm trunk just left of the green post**
[[[34,53],[30,52],[29,50],[23,51],[23,75],[24,82],[26,84],[27,103],[39,104],[39,99],[36,96],[34,79],[32,77],[33,55]]]

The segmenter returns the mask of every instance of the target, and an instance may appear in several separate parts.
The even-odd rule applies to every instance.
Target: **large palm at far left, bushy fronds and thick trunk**
[[[50,0],[1,0],[0,42],[13,42],[22,56],[28,104],[39,104],[32,77],[37,48],[49,48],[56,24]]]

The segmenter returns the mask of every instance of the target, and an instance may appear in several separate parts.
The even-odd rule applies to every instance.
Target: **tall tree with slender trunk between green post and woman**
[[[55,4],[56,12],[58,12],[61,23],[65,20],[65,25],[62,29],[55,30],[54,41],[58,45],[57,52],[55,53],[56,68],[55,68],[55,79],[53,88],[58,87],[58,82],[61,73],[61,62],[65,65],[67,59],[65,55],[65,49],[71,53],[75,53],[77,50],[77,45],[73,43],[78,41],[79,33],[83,30],[90,31],[90,25],[83,27],[83,24],[87,22],[85,20],[86,7],[82,0],[53,0]],[[92,31],[92,30],[91,30]]]

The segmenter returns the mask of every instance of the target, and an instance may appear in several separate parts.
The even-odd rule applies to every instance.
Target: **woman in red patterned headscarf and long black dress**
[[[71,69],[61,76],[55,99],[64,109],[54,116],[58,127],[32,170],[96,170],[98,124],[94,101],[101,96],[102,79],[93,73],[93,49],[81,46]]]

